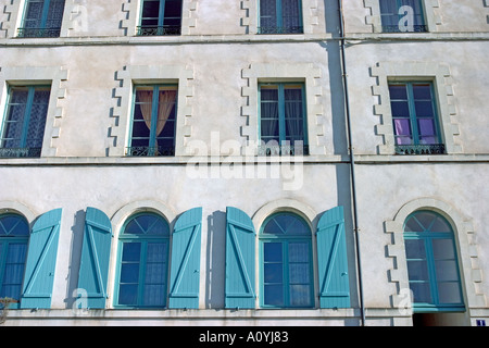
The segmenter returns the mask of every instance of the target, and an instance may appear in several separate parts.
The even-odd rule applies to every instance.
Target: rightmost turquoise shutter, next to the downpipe
[[[343,207],[326,211],[317,223],[321,308],[349,308],[347,241]]]

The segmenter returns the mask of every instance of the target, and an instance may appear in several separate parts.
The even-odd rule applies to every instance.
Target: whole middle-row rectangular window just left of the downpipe
[[[308,154],[303,84],[260,84],[259,154]]]

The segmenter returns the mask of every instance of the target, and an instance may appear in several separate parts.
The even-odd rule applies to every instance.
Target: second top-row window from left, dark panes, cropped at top
[[[180,35],[181,0],[143,0],[137,35]]]

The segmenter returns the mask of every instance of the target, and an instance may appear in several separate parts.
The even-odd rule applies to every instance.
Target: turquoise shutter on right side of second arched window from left
[[[181,214],[172,235],[168,308],[199,308],[202,208]]]

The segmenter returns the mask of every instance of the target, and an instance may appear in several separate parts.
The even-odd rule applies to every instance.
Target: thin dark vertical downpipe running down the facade
[[[350,98],[348,94],[348,74],[347,74],[347,60],[344,52],[344,16],[343,16],[343,2],[338,0],[338,14],[340,24],[340,47],[341,47],[341,75],[343,76],[343,89],[344,89],[344,111],[347,117],[347,132],[348,132],[348,147],[350,149],[350,173],[351,173],[351,196],[353,206],[353,228],[355,234],[355,249],[356,249],[356,268],[359,274],[359,297],[360,297],[360,314],[361,324],[365,326],[365,304],[363,299],[363,281],[362,281],[362,262],[360,258],[360,235],[359,235],[359,214],[356,210],[356,189],[355,189],[355,158],[353,153],[352,135],[351,135],[351,117],[350,117]]]

